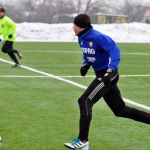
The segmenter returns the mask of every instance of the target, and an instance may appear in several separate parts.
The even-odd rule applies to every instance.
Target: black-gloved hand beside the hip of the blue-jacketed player
[[[111,82],[118,77],[117,70],[108,69],[107,72],[104,74],[102,81],[105,85],[110,85]]]

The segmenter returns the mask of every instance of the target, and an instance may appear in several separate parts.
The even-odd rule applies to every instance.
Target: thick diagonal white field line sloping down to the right
[[[2,59],[2,58],[0,58],[0,61],[5,62],[5,63],[8,63],[8,64],[14,64],[14,63],[12,63],[12,62],[10,62],[10,61],[8,61],[8,60]],[[79,88],[82,88],[82,89],[87,89],[86,86],[81,85],[81,84],[79,84],[79,83],[76,83],[76,82],[74,82],[74,81],[67,80],[67,79],[64,79],[64,78],[61,78],[61,77],[55,76],[55,75],[53,75],[53,74],[49,74],[49,73],[46,73],[46,72],[43,72],[43,71],[40,71],[40,70],[31,68],[31,67],[27,67],[27,66],[21,65],[21,68],[24,68],[24,69],[26,69],[26,70],[30,70],[30,71],[32,71],[32,72],[36,72],[36,73],[39,73],[39,74],[42,74],[42,75],[45,75],[45,76],[48,76],[48,77],[52,77],[52,78],[54,78],[54,79],[57,79],[57,80],[66,82],[66,83],[68,83],[68,84],[74,85],[74,86],[79,87]],[[126,98],[123,98],[123,99],[124,99],[124,101],[125,101],[126,103],[129,103],[129,104],[132,104],[132,105],[135,105],[135,106],[138,106],[138,107],[141,107],[141,108],[150,110],[150,107],[149,107],[149,106],[145,106],[145,105],[143,105],[143,104],[139,104],[139,103],[133,102],[133,101],[131,101],[131,100],[129,100],[129,99],[126,99]]]

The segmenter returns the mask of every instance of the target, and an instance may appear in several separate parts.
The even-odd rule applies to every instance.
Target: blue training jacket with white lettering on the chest
[[[78,35],[78,42],[83,51],[83,65],[92,66],[94,71],[118,69],[120,50],[109,36],[91,26]]]

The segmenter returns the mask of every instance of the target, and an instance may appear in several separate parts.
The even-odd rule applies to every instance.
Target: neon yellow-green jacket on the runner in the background
[[[16,41],[15,37],[16,23],[9,17],[4,16],[0,18],[0,35],[3,36],[4,41]],[[12,38],[9,38],[12,35]]]

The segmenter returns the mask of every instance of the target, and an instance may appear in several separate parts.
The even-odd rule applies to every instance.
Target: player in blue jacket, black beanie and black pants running
[[[96,78],[78,100],[80,107],[79,136],[72,143],[64,145],[70,149],[89,150],[88,133],[92,119],[92,107],[101,97],[117,117],[150,124],[149,113],[126,106],[121,97],[117,86],[120,50],[116,43],[107,35],[94,30],[90,17],[86,14],[79,14],[75,17],[73,28],[83,51],[83,66],[80,73],[85,76],[92,66]]]

